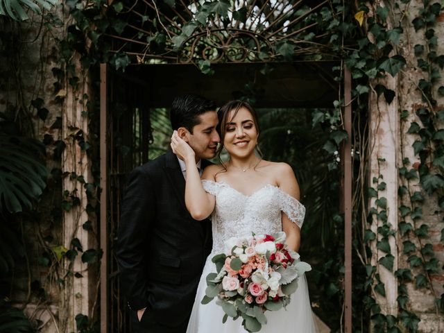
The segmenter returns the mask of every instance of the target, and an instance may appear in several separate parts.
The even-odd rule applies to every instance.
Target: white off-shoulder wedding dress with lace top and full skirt
[[[213,248],[200,277],[187,333],[246,333],[241,325],[242,318],[233,321],[228,317],[222,323],[225,312],[216,304],[216,298],[206,305],[200,304],[207,288],[205,278],[208,273],[216,272],[211,259],[224,252],[224,242],[230,237],[241,237],[250,232],[273,234],[282,231],[281,212],[301,226],[305,207],[274,185],[266,185],[246,196],[225,182],[203,180],[202,183],[205,191],[216,196],[212,213]],[[298,280],[298,289],[291,295],[287,309],[266,311],[265,315],[268,323],[262,325],[261,333],[316,332],[305,275]]]

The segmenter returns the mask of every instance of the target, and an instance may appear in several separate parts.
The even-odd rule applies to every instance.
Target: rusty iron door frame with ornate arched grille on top
[[[115,56],[129,56],[133,64],[193,64],[200,71],[210,71],[210,66],[221,63],[252,65],[257,62],[282,64],[285,60],[340,60],[332,52],[329,35],[318,29],[320,19],[327,15],[323,10],[330,6],[330,0],[234,0],[230,1],[155,1],[125,0],[119,10],[110,10],[117,2],[110,0],[105,15],[112,15],[117,24],[106,28],[105,36],[110,43],[110,51]],[[215,3],[225,3],[216,6]],[[207,6],[207,7],[205,7]],[[205,12],[206,10],[206,12]],[[332,19],[336,19],[332,17]],[[185,70],[180,65],[177,71]],[[240,65],[237,65],[240,66]],[[143,71],[139,67],[133,71]],[[161,67],[159,67],[161,68]],[[166,69],[167,67],[162,68]],[[348,142],[342,147],[343,192],[342,208],[345,213],[345,332],[352,329],[352,275],[351,275],[351,77],[345,69],[343,96],[345,108],[343,121],[348,132]],[[116,78],[114,75],[118,75]],[[140,75],[140,74],[139,74]],[[158,75],[158,73],[156,74]],[[196,74],[197,75],[197,74]],[[137,76],[137,74],[136,74]],[[121,89],[138,86],[151,89],[149,78],[135,78],[110,71],[109,66],[101,65],[101,332],[122,332],[117,323],[124,325],[122,318],[112,318],[110,307],[121,307],[114,303],[112,292],[119,290],[115,279],[115,263],[112,261],[112,228],[118,221],[119,191],[123,188],[123,176],[137,163],[146,162],[147,156],[139,154],[139,160],[115,158],[113,130],[119,126],[146,126],[149,121],[150,106],[148,94],[136,89],[127,96],[132,105],[126,105],[128,112],[123,123],[113,121],[110,111],[115,103],[113,85],[119,83]],[[141,79],[142,78],[142,79]],[[322,80],[322,79],[321,79]],[[132,82],[132,83],[130,83]],[[325,82],[325,81],[324,81]],[[123,84],[122,84],[123,83]],[[130,84],[128,84],[130,83]],[[330,83],[329,83],[330,84]],[[341,83],[336,83],[341,85]],[[338,89],[339,91],[340,89]],[[337,95],[336,95],[337,98]],[[137,110],[143,110],[139,112]],[[139,114],[137,115],[137,112]],[[117,126],[117,127],[115,127]],[[148,125],[149,126],[149,125]],[[140,145],[147,142],[149,129],[144,135],[127,137],[128,142],[137,139]],[[147,151],[147,147],[146,148]],[[114,165],[114,167],[112,167]],[[116,167],[117,166],[117,167]],[[119,191],[116,191],[118,189]],[[113,192],[114,191],[114,192]],[[112,197],[114,196],[114,198]]]

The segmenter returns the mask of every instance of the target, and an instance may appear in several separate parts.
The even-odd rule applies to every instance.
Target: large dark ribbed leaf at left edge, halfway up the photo
[[[48,175],[38,156],[42,151],[33,139],[0,134],[0,210],[22,212],[39,199]]]

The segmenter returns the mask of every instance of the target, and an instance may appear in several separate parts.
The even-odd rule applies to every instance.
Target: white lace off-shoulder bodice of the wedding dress
[[[202,184],[205,191],[216,196],[212,212],[212,253],[223,252],[224,242],[230,237],[282,231],[281,212],[299,227],[304,221],[304,205],[274,185],[265,185],[246,196],[225,182],[202,180]]]

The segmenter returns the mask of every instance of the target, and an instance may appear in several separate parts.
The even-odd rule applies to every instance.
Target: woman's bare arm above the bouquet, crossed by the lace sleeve
[[[289,164],[280,163],[278,168],[278,185],[282,191],[299,200],[299,185]],[[287,245],[298,252],[300,246],[300,228],[282,212],[282,230],[287,234]]]

